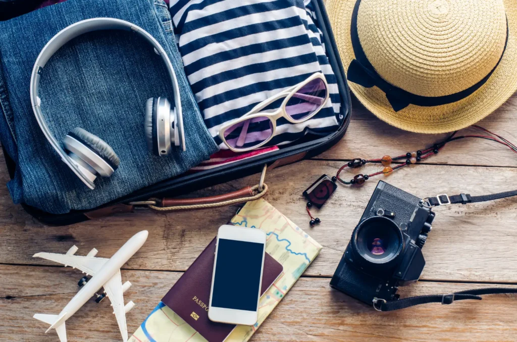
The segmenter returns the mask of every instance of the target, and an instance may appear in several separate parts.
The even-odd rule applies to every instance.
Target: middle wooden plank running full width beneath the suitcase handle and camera
[[[324,246],[309,268],[309,275],[333,274],[379,179],[421,197],[445,192],[490,194],[517,187],[514,181],[517,168],[409,166],[389,177],[369,180],[362,188],[339,185],[321,211],[313,210],[322,223],[310,228],[301,193],[323,173],[331,175],[340,165],[331,161],[303,161],[271,170],[266,177],[270,187],[266,199]],[[368,166],[361,171],[372,173],[378,169],[378,166]],[[346,177],[353,175],[349,173]],[[224,193],[256,182],[257,177],[252,176],[194,195]],[[80,248],[79,255],[96,247],[99,256],[109,257],[135,232],[149,229],[146,244],[127,268],[184,271],[216,235],[217,228],[236,210],[236,207],[227,207],[167,214],[139,211],[67,227],[46,227],[19,206],[12,205],[5,189],[0,192],[4,208],[0,212],[0,263],[12,264],[52,265],[33,259],[32,255],[41,251],[64,253],[72,244]],[[517,254],[514,253],[517,201],[514,198],[440,207],[436,213],[433,231],[423,250],[427,261],[424,279],[517,283]]]

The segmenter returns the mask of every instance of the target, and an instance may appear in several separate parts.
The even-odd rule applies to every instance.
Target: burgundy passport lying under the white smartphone
[[[216,238],[194,260],[188,270],[161,300],[209,342],[222,342],[235,324],[208,319],[208,303],[216,253]],[[266,253],[262,272],[261,296],[282,273],[283,266]]]

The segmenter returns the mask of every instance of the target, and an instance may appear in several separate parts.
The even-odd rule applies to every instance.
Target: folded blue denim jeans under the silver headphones
[[[47,63],[40,83],[41,108],[58,141],[74,127],[99,136],[120,158],[110,178],[89,190],[45,139],[31,108],[29,81],[43,46],[66,26],[112,17],[153,35],[168,52],[181,93],[187,151],[154,157],[144,138],[147,98],[174,98],[160,57],[143,38],[118,30],[93,32],[67,43]],[[217,151],[183,71],[162,0],[68,0],[0,23],[0,134],[17,162],[8,183],[15,203],[50,213],[90,209],[144,186],[186,172]]]

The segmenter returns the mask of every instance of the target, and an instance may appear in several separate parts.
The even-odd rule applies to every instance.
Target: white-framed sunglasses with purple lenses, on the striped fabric
[[[267,144],[277,132],[277,120],[291,123],[307,121],[327,103],[328,84],[325,75],[317,72],[297,85],[257,104],[244,116],[222,126],[221,140],[234,152],[250,151]],[[284,98],[277,110],[263,111],[275,101]]]

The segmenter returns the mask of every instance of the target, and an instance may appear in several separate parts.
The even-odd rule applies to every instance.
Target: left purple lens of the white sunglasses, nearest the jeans
[[[273,123],[266,116],[237,122],[224,131],[226,143],[235,149],[254,148],[273,134]]]

